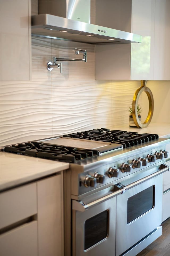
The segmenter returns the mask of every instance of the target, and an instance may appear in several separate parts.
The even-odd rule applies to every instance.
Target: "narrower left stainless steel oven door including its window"
[[[115,256],[116,197],[73,210],[73,256]]]

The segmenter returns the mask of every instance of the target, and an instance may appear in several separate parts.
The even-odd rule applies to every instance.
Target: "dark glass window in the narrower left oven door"
[[[108,236],[108,210],[105,210],[84,223],[84,250]]]

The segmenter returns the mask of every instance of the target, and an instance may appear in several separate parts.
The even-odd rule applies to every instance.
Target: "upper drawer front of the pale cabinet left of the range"
[[[37,213],[36,183],[3,192],[1,197],[1,228]]]

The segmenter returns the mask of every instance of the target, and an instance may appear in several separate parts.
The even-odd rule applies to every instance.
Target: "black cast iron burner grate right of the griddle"
[[[63,137],[118,143],[122,144],[123,148],[142,144],[144,142],[152,141],[159,138],[158,134],[138,134],[137,132],[110,130],[106,128],[64,134]]]

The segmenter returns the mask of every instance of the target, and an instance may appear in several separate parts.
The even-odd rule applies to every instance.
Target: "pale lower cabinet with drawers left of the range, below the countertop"
[[[62,256],[63,175],[0,194],[1,256]]]

